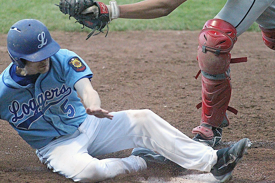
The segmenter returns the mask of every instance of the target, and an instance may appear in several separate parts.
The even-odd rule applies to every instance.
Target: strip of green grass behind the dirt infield
[[[103,0],[109,4],[109,0]],[[135,0],[117,0],[118,4],[135,3]],[[7,33],[18,20],[34,18],[42,21],[49,30],[90,31],[80,29],[82,25],[69,20],[59,11],[59,0],[0,0],[0,32]],[[205,21],[213,18],[222,9],[226,0],[188,0],[168,16],[156,19],[115,19],[109,24],[110,31],[123,30],[200,30]],[[254,23],[249,30],[259,31]]]

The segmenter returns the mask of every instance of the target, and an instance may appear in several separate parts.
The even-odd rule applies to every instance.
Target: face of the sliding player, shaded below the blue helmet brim
[[[27,75],[37,74],[37,73],[44,74],[48,72],[49,68],[50,68],[50,58],[46,58],[45,60],[42,60],[40,62],[27,61],[24,67]]]

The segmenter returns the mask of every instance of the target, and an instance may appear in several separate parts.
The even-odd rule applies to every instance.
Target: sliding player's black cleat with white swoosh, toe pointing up
[[[248,138],[241,139],[239,142],[217,151],[218,160],[212,167],[211,173],[220,182],[225,182],[232,176],[232,171],[243,159],[252,143]]]

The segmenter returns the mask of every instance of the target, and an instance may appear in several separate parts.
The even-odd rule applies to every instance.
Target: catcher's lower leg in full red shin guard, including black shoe
[[[201,124],[193,140],[213,147],[228,126],[226,109],[231,96],[230,50],[237,41],[236,29],[221,19],[208,20],[199,34],[198,61],[202,73]]]

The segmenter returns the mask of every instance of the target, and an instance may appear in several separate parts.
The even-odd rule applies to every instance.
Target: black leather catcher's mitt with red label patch
[[[93,29],[92,32],[87,35],[86,40],[94,34],[95,30],[98,30],[99,32],[94,35],[103,32],[102,29],[105,26],[107,26],[107,33],[105,37],[107,36],[107,24],[110,21],[110,15],[107,6],[102,2],[97,2],[93,0],[60,0],[59,5],[57,6],[59,6],[59,9],[62,13],[64,13],[65,15],[70,15],[69,19],[72,16],[77,20],[76,22],[82,24],[82,29],[84,28],[84,26]],[[87,12],[87,8],[90,9],[89,12]]]

